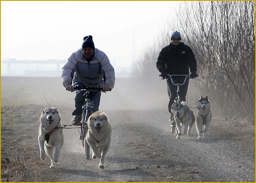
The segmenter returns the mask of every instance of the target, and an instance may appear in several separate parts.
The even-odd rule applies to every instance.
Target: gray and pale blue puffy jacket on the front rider
[[[105,85],[112,89],[115,83],[115,72],[107,55],[95,48],[94,56],[88,62],[82,56],[81,49],[79,49],[71,54],[63,66],[61,78],[64,87],[72,84],[72,79],[74,85],[82,83],[85,86],[102,87],[104,85],[104,74]]]

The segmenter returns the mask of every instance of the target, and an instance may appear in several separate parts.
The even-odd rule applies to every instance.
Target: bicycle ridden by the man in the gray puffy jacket
[[[85,136],[88,131],[88,125],[87,125],[87,120],[89,116],[93,113],[93,107],[94,107],[94,101],[90,101],[91,94],[92,93],[98,93],[101,92],[103,89],[102,87],[80,87],[75,86],[74,90],[85,90],[85,101],[82,106],[82,122],[80,123],[81,126],[81,132],[78,129],[78,132],[80,134],[79,139],[82,140],[82,146],[85,146],[85,156],[86,159],[90,158],[90,146],[85,140]],[[85,142],[85,143],[84,143]]]

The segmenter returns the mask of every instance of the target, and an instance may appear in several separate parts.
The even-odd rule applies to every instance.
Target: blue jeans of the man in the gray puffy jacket
[[[83,85],[79,84],[81,87],[84,87]],[[77,90],[76,96],[75,96],[75,107],[76,109],[72,113],[72,115],[82,115],[82,105],[85,101],[85,90]],[[100,105],[100,96],[101,93],[91,93],[90,101],[93,101],[94,107],[92,109],[93,112],[96,112],[99,110]]]

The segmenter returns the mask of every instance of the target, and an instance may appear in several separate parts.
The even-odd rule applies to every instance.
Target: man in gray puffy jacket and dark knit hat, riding
[[[82,48],[72,53],[62,68],[62,84],[66,90],[74,92],[74,86],[102,87],[103,91],[111,91],[115,83],[114,68],[103,51],[94,47],[92,36],[83,38]],[[73,80],[73,85],[72,85]],[[75,114],[72,124],[80,123],[82,119],[83,94],[77,90],[75,96]],[[101,93],[94,93],[93,112],[99,110]]]

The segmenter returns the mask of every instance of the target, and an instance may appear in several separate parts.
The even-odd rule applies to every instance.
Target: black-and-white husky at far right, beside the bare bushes
[[[208,96],[201,98],[197,101],[197,113],[196,113],[196,130],[198,133],[198,139],[206,137],[206,132],[210,126],[211,112],[210,101]]]

